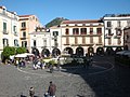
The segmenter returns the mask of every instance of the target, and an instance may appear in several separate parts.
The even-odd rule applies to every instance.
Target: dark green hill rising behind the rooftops
[[[63,20],[68,20],[68,19],[64,18],[64,17],[56,17],[56,18],[52,19],[50,23],[48,23],[46,25],[46,27],[49,28],[49,27],[52,27],[52,26],[60,25]]]

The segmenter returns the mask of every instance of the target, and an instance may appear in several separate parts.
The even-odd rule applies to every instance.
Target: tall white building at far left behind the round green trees
[[[18,46],[20,44],[18,15],[0,6],[0,54],[3,47]]]

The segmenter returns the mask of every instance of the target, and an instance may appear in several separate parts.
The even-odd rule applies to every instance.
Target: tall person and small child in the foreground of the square
[[[48,92],[43,94],[44,97],[56,97],[55,96],[55,92],[56,92],[56,85],[54,83],[52,83],[52,81],[50,82],[50,85],[48,87]],[[30,87],[29,89],[29,97],[35,97],[35,88]]]

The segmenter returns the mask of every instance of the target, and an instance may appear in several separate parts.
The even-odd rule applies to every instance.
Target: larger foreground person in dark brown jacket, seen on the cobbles
[[[52,83],[52,81],[50,82],[49,88],[48,88],[48,94],[50,97],[56,97],[55,96],[55,92],[56,92],[56,85]]]

